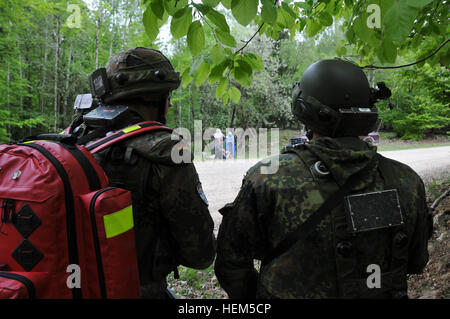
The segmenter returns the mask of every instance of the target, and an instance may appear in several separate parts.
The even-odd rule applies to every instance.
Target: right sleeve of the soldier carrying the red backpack
[[[214,222],[194,165],[157,164],[154,169],[162,215],[178,262],[196,269],[208,267],[215,256]]]

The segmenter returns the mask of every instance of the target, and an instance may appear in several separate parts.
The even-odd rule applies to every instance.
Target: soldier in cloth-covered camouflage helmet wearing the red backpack
[[[143,121],[165,123],[180,78],[161,52],[139,47],[120,52],[107,63],[106,73],[110,92],[102,102],[129,108],[108,130]],[[77,131],[79,125],[75,119],[71,127]],[[83,125],[85,134],[93,132]],[[143,298],[166,298],[166,276],[178,265],[203,269],[215,256],[214,223],[199,177],[192,162],[173,162],[172,148],[180,138],[171,135],[153,131],[95,154],[110,185],[132,193]]]

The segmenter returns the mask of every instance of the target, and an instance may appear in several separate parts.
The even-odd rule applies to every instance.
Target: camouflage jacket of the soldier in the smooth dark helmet
[[[398,190],[401,229],[408,239],[403,249],[392,248],[396,227],[350,234],[340,204],[314,229],[305,229],[305,240],[262,265],[259,272],[254,268],[255,259],[264,259],[376,154],[376,147],[357,138],[320,138],[283,151],[276,174],[261,174],[260,168],[267,165],[262,162],[252,167],[235,201],[221,209],[215,271],[229,297],[391,298],[399,290],[406,293],[406,273],[420,273],[428,261],[430,214],[420,177],[407,165],[389,159],[384,162],[395,185],[387,185],[375,165],[352,193]],[[313,174],[311,166],[318,160],[330,174]],[[345,256],[338,251],[342,242],[350,247]],[[380,266],[383,289],[367,288],[370,264]]]

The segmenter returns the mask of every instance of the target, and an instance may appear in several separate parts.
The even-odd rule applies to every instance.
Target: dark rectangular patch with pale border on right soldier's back
[[[344,202],[352,233],[403,224],[396,189],[351,195],[345,197]]]

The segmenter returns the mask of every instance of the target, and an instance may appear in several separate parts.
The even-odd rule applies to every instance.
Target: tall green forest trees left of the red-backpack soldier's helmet
[[[164,12],[155,36],[168,18],[164,3],[152,2],[146,13]],[[100,67],[110,54],[149,45],[140,0],[70,4],[79,8],[79,28],[68,24],[76,11],[68,10],[67,1],[0,0],[0,142],[67,127],[76,95],[89,92],[96,53]]]

